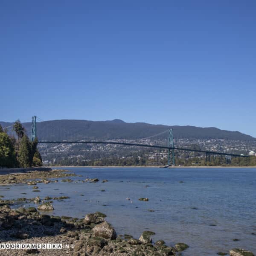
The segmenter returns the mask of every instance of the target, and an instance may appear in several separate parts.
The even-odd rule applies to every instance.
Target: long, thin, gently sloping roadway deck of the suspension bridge
[[[122,143],[122,142],[112,142],[112,141],[38,141],[38,143],[47,143],[47,144],[73,144],[73,143],[80,143],[80,144],[115,144],[115,145],[126,145],[126,146],[138,146],[138,147],[147,147],[147,148],[166,148],[166,149],[174,149],[174,150],[182,150],[182,151],[192,151],[192,152],[201,152],[206,154],[218,154],[224,156],[231,156],[231,157],[248,157],[239,154],[228,154],[223,152],[216,152],[216,151],[205,151],[205,150],[196,150],[190,148],[172,148],[166,146],[158,146],[158,145],[148,145],[148,144],[136,144],[136,143]]]

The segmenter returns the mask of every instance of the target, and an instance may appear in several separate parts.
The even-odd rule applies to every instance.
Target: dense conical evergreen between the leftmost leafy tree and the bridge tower
[[[30,167],[32,165],[31,159],[31,143],[27,135],[23,135],[20,140],[20,149],[19,149],[19,157],[18,157],[20,167]]]

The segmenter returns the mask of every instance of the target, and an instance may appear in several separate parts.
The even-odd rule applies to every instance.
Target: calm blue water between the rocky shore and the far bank
[[[151,230],[156,233],[153,241],[189,244],[184,256],[211,256],[233,247],[256,253],[256,235],[251,234],[256,233],[256,169],[66,169],[83,175],[73,180],[98,177],[109,182],[62,183],[58,179],[58,183],[38,183],[41,192],[15,185],[0,187],[0,195],[5,199],[68,195],[70,199],[53,202],[52,214],[83,218],[88,212],[104,212],[118,234],[139,238],[144,230]],[[149,201],[138,201],[140,197]]]

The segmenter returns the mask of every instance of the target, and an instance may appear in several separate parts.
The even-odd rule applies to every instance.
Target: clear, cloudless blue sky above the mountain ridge
[[[256,1],[0,1],[0,120],[256,137]]]

